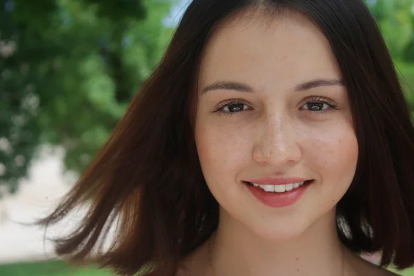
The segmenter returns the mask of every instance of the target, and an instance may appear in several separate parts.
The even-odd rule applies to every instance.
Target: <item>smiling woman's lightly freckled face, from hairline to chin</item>
[[[198,93],[199,161],[221,212],[269,239],[335,217],[358,147],[317,28],[299,17],[228,21],[208,42]]]

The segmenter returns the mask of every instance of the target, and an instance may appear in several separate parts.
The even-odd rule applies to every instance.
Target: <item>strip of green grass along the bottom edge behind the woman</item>
[[[414,268],[399,273],[402,276],[414,276]],[[82,268],[75,270],[64,262],[38,262],[22,264],[0,265],[1,276],[113,276],[105,270],[98,270],[96,267]]]

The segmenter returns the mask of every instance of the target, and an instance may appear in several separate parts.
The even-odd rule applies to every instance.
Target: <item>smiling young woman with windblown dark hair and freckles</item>
[[[393,275],[414,264],[414,128],[362,0],[194,0],[41,223],[118,275]],[[115,242],[91,257],[112,224]]]

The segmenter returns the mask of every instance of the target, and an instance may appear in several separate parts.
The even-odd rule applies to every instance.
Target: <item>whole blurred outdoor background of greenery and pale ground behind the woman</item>
[[[21,223],[52,210],[88,166],[188,2],[0,0],[0,276],[110,275],[67,266],[43,229]],[[414,112],[414,0],[366,2]],[[48,237],[75,227],[84,210]]]

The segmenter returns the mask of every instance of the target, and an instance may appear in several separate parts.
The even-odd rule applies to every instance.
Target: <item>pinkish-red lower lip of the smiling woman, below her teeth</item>
[[[262,202],[262,204],[272,208],[283,208],[295,204],[295,202],[302,197],[308,186],[312,183],[313,181],[284,193],[266,192],[262,188],[250,186],[248,184],[245,185],[248,190],[250,190],[250,193]]]

